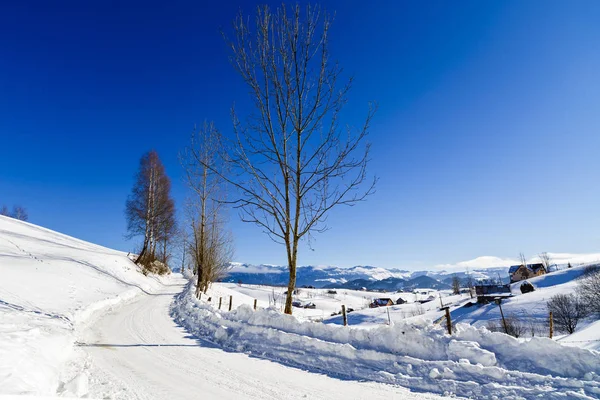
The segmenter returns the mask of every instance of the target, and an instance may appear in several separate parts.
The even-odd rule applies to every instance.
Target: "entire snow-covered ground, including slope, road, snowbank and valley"
[[[583,268],[532,279],[533,293],[516,285],[504,312],[543,318]],[[497,306],[430,289],[301,288],[294,300],[316,308],[294,316],[281,312],[283,287],[214,284],[197,300],[178,274],[146,277],[127,254],[6,217],[0,269],[0,395],[600,398],[598,321],[515,339],[485,328]],[[406,303],[367,308],[374,298]],[[458,322],[452,336],[440,304]],[[348,327],[331,315],[342,305],[355,310]]]

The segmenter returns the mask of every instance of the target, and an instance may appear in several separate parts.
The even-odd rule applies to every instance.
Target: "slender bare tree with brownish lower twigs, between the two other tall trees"
[[[181,154],[188,188],[192,193],[188,215],[192,229],[190,253],[197,273],[196,296],[211,282],[224,277],[231,262],[232,238],[224,227],[225,173],[219,158],[222,138],[213,123],[204,123],[192,134]]]

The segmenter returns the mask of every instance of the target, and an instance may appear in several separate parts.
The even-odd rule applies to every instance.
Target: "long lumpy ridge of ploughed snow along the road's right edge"
[[[247,305],[221,312],[195,299],[192,284],[171,313],[190,332],[225,349],[332,376],[476,398],[600,396],[600,354],[549,339],[522,343],[461,324],[448,336],[425,320],[355,329]]]

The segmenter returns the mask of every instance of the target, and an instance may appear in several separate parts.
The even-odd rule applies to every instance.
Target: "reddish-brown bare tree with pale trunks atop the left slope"
[[[171,198],[171,181],[155,151],[144,154],[136,174],[136,182],[127,198],[128,237],[144,236],[136,263],[144,264],[156,258],[156,246],[169,240],[175,226],[175,203]],[[146,265],[147,266],[147,265]]]

